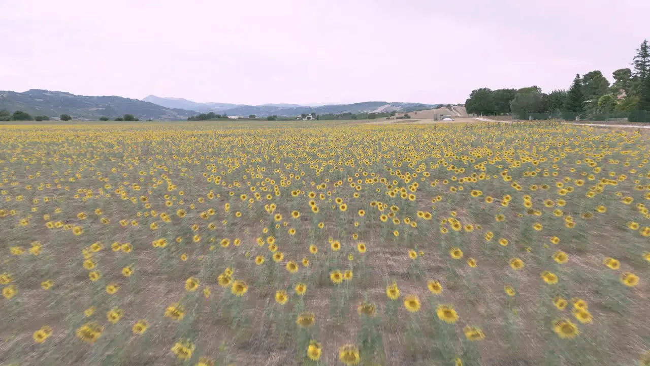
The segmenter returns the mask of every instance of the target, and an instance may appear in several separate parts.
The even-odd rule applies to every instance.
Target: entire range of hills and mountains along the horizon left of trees
[[[69,92],[30,89],[26,92],[0,91],[0,109],[27,112],[32,116],[59,117],[63,113],[73,119],[96,120],[99,117],[122,117],[126,113],[140,120],[185,120],[199,113],[214,112],[229,116],[255,115],[268,117],[299,116],[302,113],[385,113],[409,112],[431,109],[440,104],[402,102],[362,102],[354,104],[329,104],[326,106],[302,106],[300,104],[262,104],[247,106],[228,103],[197,103],[183,98],[161,98],[149,95],[144,100],[122,98],[121,96],[83,96]]]

